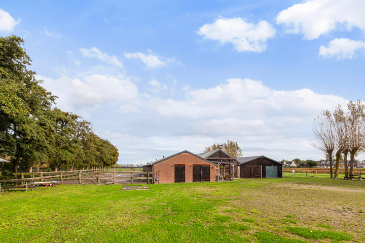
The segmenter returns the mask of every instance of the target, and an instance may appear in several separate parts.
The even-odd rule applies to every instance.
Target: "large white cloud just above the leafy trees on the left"
[[[93,108],[98,105],[124,103],[137,97],[137,87],[127,78],[86,75],[71,78],[61,75],[57,79],[37,76],[44,80],[43,86],[59,99],[57,107],[66,110]]]

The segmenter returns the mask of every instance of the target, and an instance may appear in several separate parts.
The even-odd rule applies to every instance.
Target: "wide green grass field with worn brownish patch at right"
[[[0,194],[0,242],[365,242],[365,182],[60,185]]]

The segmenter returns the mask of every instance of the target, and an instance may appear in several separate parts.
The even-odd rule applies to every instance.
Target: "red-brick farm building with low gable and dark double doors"
[[[154,172],[155,183],[215,181],[216,164],[187,150],[143,166]]]

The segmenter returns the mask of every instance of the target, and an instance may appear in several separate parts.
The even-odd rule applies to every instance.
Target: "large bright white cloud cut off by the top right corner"
[[[303,33],[306,39],[318,38],[336,27],[365,30],[365,1],[311,0],[281,11],[277,24],[284,24],[289,33]]]

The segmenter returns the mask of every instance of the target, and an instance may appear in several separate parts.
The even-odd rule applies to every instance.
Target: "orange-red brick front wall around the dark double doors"
[[[157,183],[174,183],[174,165],[185,165],[185,182],[193,182],[193,165],[210,165],[210,181],[215,181],[215,166],[190,153],[181,153],[154,165],[154,172],[160,171]]]

